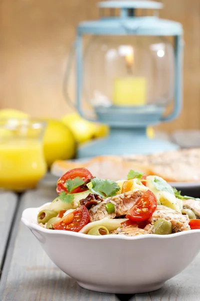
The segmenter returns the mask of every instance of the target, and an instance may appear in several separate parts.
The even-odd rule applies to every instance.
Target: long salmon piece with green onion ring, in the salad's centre
[[[94,205],[89,212],[90,222],[101,220],[104,217],[115,218],[117,216],[126,215],[129,209],[135,204],[135,202],[143,195],[143,192],[128,191],[105,199],[100,204]],[[105,205],[112,203],[114,205],[115,211],[113,213],[107,213]]]

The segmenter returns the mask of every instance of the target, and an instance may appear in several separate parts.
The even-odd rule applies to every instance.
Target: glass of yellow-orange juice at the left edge
[[[32,189],[45,175],[44,128],[37,120],[0,119],[0,188]]]

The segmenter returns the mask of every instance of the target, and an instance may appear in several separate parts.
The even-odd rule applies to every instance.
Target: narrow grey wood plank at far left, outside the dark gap
[[[17,195],[11,192],[0,192],[0,267],[17,205]]]

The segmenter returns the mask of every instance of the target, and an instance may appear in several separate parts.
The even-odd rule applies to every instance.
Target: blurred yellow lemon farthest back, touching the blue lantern
[[[90,122],[77,113],[65,115],[61,118],[61,121],[70,128],[78,143],[104,137],[109,131],[107,125]]]

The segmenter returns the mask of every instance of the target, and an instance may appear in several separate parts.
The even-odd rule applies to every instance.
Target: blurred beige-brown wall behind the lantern
[[[0,108],[59,117],[71,109],[61,84],[75,26],[98,17],[97,0],[0,0]],[[161,125],[200,128],[200,1],[164,0],[160,16],[184,27],[184,105]],[[71,87],[73,88],[73,87]]]

